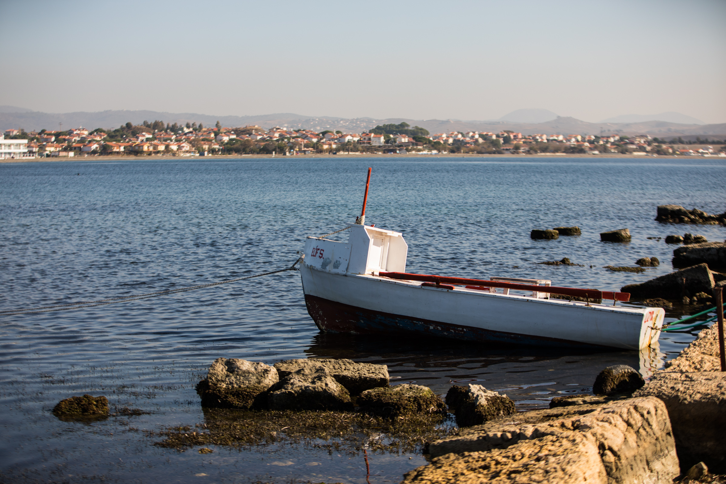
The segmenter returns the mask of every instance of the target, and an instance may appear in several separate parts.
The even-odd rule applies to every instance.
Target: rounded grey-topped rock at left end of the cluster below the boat
[[[223,409],[259,409],[266,391],[279,381],[277,370],[264,363],[238,358],[217,358],[207,377],[197,385],[202,406]]]

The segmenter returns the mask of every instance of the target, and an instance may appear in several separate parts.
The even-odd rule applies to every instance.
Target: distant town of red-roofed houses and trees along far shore
[[[726,156],[724,141],[697,139],[699,147],[683,146],[682,139],[665,141],[650,135],[529,134],[451,131],[431,134],[408,123],[384,124],[365,133],[343,133],[308,129],[269,129],[260,126],[239,128],[205,127],[202,123],[144,121],[126,123],[117,129],[71,128],[25,132],[9,129],[0,135],[0,157],[78,157],[78,156],[209,156],[209,155],[309,155],[323,154],[497,154],[528,155],[566,153],[600,155],[689,155]]]

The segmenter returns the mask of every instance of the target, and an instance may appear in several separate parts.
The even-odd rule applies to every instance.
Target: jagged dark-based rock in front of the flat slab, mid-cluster
[[[325,366],[295,370],[269,389],[270,410],[353,410],[351,395]]]

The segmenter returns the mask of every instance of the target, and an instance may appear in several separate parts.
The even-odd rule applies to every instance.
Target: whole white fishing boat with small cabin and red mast
[[[401,232],[364,225],[367,193],[368,184],[347,243],[306,240],[303,292],[322,331],[629,350],[658,340],[664,310],[614,305],[629,300],[624,292],[553,287],[544,279],[407,273]]]

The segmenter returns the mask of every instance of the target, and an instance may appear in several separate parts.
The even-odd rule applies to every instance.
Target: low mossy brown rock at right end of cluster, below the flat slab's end
[[[422,385],[395,385],[373,388],[360,394],[356,403],[360,411],[380,417],[398,418],[416,415],[446,414],[446,405],[431,388]]]

